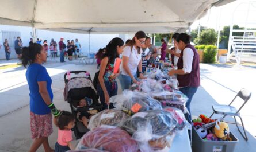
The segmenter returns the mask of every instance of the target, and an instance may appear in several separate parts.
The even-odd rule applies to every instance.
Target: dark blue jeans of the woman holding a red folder
[[[109,93],[109,98],[111,98],[112,96],[117,95],[118,87],[117,87],[116,82],[112,83],[110,81],[104,81],[104,83],[105,83],[106,90]],[[100,84],[98,84],[98,93],[100,95],[100,100],[101,100],[101,105],[103,106],[103,110],[108,109],[108,104],[105,103],[104,91],[102,90]],[[110,109],[114,108],[113,103],[109,104],[109,108]]]

